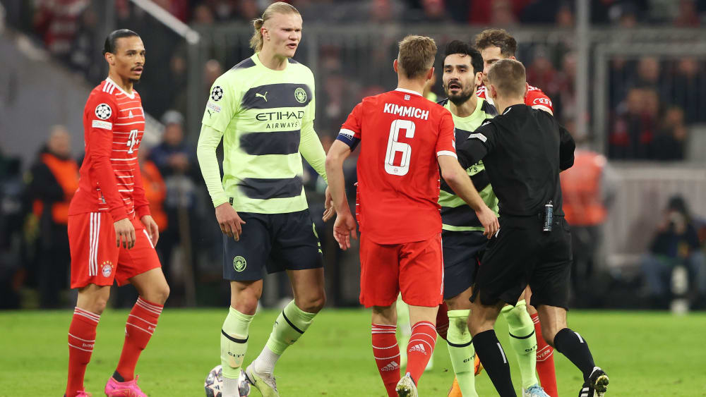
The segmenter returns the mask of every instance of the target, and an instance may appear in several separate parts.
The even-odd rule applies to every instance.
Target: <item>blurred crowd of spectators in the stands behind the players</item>
[[[92,1],[4,2],[8,3],[11,17],[17,17],[10,18],[11,23],[41,38],[52,54],[85,75],[90,83],[101,80],[101,66],[90,62],[100,48],[95,40],[102,32]],[[260,16],[269,1],[157,0],[155,3],[179,20],[198,26],[247,23]],[[572,28],[575,20],[574,3],[567,0],[292,0],[289,3],[308,16],[307,25],[325,20],[326,23],[456,23],[478,27],[549,24]],[[149,27],[150,63],[169,65],[167,73],[146,73],[143,78],[144,85],[160,87],[143,95],[148,113],[157,118],[168,109],[186,114],[187,62],[179,37],[150,24],[150,16],[130,1],[116,0],[115,5],[118,25],[138,32]],[[600,0],[591,2],[590,11],[591,23],[596,25],[698,27],[706,19],[706,0]],[[563,124],[573,124],[579,116],[573,87],[573,44],[520,47],[518,58],[527,66],[528,80],[542,87],[552,99],[555,114]],[[332,134],[344,121],[347,109],[359,99],[388,88],[365,76],[351,78],[351,73],[346,73],[346,67],[340,64],[341,51],[341,47],[330,44],[320,49],[323,70],[318,78],[324,84],[320,85],[323,100],[317,105],[320,115],[317,123],[323,134]],[[386,49],[381,53],[378,58],[390,55]],[[232,62],[234,59],[214,59],[207,63],[203,71],[204,90]],[[376,73],[376,64],[371,63],[369,75],[381,74]],[[694,57],[614,59],[609,75],[608,157],[685,159],[689,126],[706,121],[706,115],[699,111],[706,105],[706,99],[699,94],[706,92],[706,63]],[[659,78],[665,75],[668,77]],[[441,94],[441,87],[435,87],[435,91]]]

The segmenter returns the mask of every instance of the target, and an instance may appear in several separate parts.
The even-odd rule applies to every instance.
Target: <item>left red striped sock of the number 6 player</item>
[[[396,325],[380,324],[373,324],[371,328],[373,357],[390,397],[397,397],[395,386],[400,381],[400,346],[397,346],[395,329]]]

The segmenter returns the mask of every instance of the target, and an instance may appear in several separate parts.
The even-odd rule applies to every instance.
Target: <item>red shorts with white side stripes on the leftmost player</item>
[[[145,226],[137,219],[131,221],[135,246],[128,250],[116,247],[113,218],[107,212],[68,216],[71,288],[112,286],[114,279],[123,286],[131,277],[162,266]]]

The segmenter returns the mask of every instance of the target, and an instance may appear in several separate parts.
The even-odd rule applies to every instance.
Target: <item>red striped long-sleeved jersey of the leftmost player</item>
[[[110,78],[95,87],[83,109],[85,157],[68,213],[109,212],[113,221],[149,215],[137,153],[145,133],[140,94]]]

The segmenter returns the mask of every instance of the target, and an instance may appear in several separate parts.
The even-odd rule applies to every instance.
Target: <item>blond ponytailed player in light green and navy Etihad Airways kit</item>
[[[299,11],[283,2],[253,21],[255,54],[213,83],[198,139],[201,172],[225,235],[223,276],[231,286],[221,330],[224,397],[245,395],[249,384],[263,396],[279,396],[275,363],[325,303],[321,244],[301,178],[303,156],[326,180],[325,152],[313,129],[313,74],[291,59],[301,23]],[[215,154],[221,139],[222,180]],[[243,371],[264,269],[287,271],[294,300]]]

